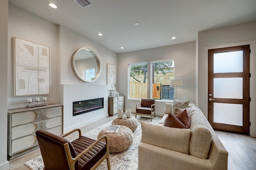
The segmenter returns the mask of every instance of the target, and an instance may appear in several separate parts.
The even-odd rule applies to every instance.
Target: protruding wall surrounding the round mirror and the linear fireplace
[[[108,87],[107,63],[116,63],[117,54],[107,50],[102,45],[75,33],[60,25],[60,83],[63,84],[64,104],[64,133],[76,127],[88,125],[94,121],[108,117]],[[100,60],[101,73],[94,82],[83,82],[76,77],[72,70],[71,59],[73,53],[81,48],[92,49]],[[104,97],[104,109],[72,116],[72,102]]]

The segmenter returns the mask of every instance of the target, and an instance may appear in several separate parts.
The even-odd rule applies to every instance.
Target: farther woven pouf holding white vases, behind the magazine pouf
[[[135,131],[138,127],[138,121],[135,117],[130,117],[127,119],[118,119],[117,117],[113,119],[112,125],[123,125],[129,127],[132,131]]]

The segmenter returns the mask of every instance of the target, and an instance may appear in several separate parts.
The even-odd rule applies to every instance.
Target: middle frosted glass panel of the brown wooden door
[[[243,78],[214,78],[214,98],[243,98]]]

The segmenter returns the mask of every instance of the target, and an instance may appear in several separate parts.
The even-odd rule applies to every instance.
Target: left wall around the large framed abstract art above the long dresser
[[[13,37],[50,47],[50,95],[48,103],[60,103],[60,55],[58,25],[9,4],[8,17],[8,109],[26,107],[26,96],[13,96]],[[45,96],[45,95],[44,95]],[[35,97],[35,96],[32,96]],[[34,104],[34,103],[33,103]]]

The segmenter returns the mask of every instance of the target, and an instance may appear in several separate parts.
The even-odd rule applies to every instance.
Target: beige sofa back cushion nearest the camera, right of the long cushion
[[[201,115],[196,108],[194,108],[194,111],[190,115],[191,137],[189,153],[198,158],[208,159],[212,143],[212,134],[202,116],[204,115]]]

